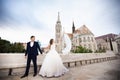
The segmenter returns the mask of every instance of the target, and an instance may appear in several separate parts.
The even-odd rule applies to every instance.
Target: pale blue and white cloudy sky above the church
[[[11,42],[27,42],[31,35],[48,43],[60,20],[65,32],[72,22],[86,25],[95,36],[119,34],[120,0],[0,0],[0,37]]]

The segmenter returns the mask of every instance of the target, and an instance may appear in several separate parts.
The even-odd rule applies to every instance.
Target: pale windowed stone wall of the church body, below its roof
[[[80,46],[80,45],[82,47],[86,47],[87,49],[91,49],[93,52],[97,50],[96,40],[92,34],[87,34],[87,35],[74,34],[73,49],[75,49],[75,46]]]

